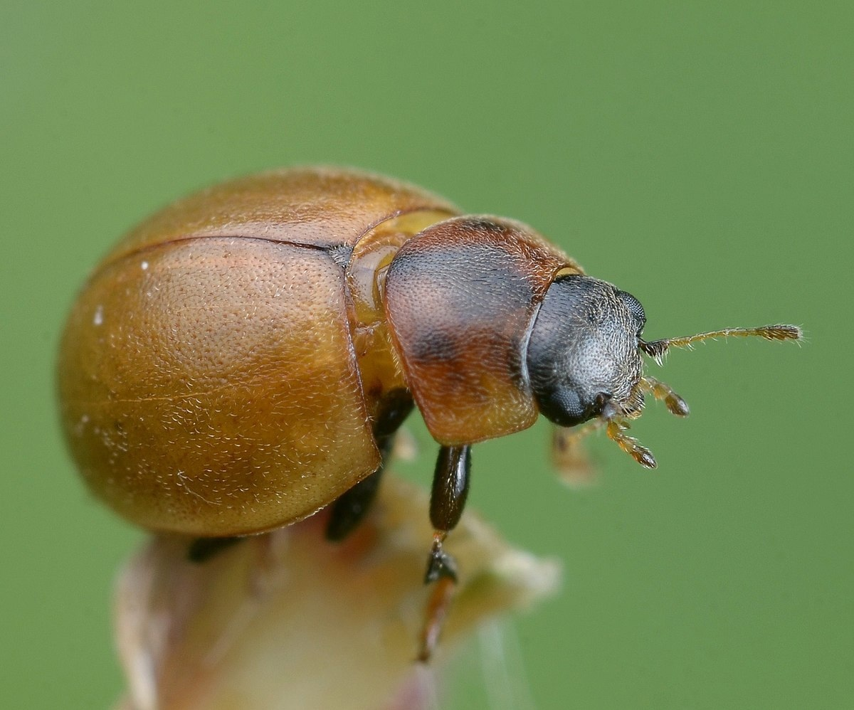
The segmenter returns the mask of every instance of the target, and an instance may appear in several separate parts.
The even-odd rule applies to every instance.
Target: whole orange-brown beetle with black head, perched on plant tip
[[[472,445],[542,414],[605,428],[652,468],[629,421],[645,394],[679,416],[687,404],[643,374],[643,354],[800,337],[775,325],[647,342],[645,323],[635,296],[525,224],[364,172],[266,172],[156,213],[97,265],[61,338],[61,422],[91,492],[197,538],[202,559],[326,506],[327,536],[346,537],[417,406],[440,445],[426,659],[453,591],[443,542]]]

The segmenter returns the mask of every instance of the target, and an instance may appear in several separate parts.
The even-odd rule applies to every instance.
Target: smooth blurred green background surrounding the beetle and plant
[[[477,447],[470,504],[564,562],[513,625],[537,707],[854,707],[850,3],[135,8],[0,17],[3,707],[121,687],[110,585],[142,535],[57,431],[75,290],[163,203],[313,162],[533,224],[638,296],[649,338],[804,325],[672,353],[692,416],[635,426],[658,471],[597,439],[599,485],[567,490],[541,424]]]

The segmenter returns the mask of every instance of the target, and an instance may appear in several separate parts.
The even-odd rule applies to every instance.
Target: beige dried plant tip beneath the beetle
[[[388,475],[366,521],[325,541],[325,513],[246,538],[202,564],[159,536],[121,574],[116,626],[127,710],[418,708],[453,647],[552,593],[555,562],[476,515],[447,540],[459,588],[430,668],[415,663],[432,530],[426,493]]]

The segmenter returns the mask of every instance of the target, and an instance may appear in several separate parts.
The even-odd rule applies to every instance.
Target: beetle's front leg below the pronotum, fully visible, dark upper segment
[[[424,573],[424,584],[435,584],[427,602],[418,661],[430,660],[457,584],[456,562],[445,552],[442,544],[463,514],[465,499],[469,494],[470,474],[471,446],[442,446],[436,460],[436,474],[430,493],[430,522],[435,532]]]

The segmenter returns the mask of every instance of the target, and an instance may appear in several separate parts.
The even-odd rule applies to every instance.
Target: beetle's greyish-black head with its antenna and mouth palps
[[[611,283],[582,276],[557,276],[535,318],[526,355],[529,381],[541,414],[560,427],[595,419],[623,451],[646,468],[655,468],[652,452],[625,434],[640,416],[644,393],[661,399],[676,416],[688,406],[664,382],[643,375],[641,353],[661,364],[670,347],[729,335],[758,335],[765,340],[799,340],[793,325],[730,328],[646,342],[640,338],[646,314],[635,296]]]

